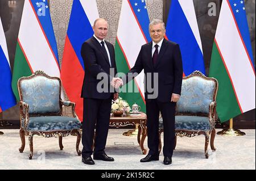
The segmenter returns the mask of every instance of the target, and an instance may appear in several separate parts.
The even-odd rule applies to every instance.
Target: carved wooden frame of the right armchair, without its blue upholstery
[[[191,77],[201,77],[205,80],[210,80],[213,81],[215,86],[214,86],[214,92],[213,92],[213,101],[209,104],[209,114],[205,114],[205,113],[198,113],[198,114],[191,114],[191,113],[176,113],[177,116],[205,116],[205,117],[209,117],[209,123],[210,123],[210,130],[209,131],[188,131],[188,130],[183,130],[183,129],[175,129],[175,144],[174,144],[174,149],[176,148],[176,143],[177,143],[177,136],[180,137],[194,137],[194,136],[198,136],[200,134],[204,134],[205,136],[205,146],[204,146],[204,153],[205,153],[205,158],[209,157],[208,154],[208,144],[209,144],[209,138],[210,138],[210,148],[212,150],[216,150],[216,148],[214,147],[214,138],[215,138],[215,134],[216,134],[216,130],[215,130],[215,122],[216,122],[216,95],[217,95],[217,91],[218,91],[218,81],[215,78],[209,78],[206,77],[203,73],[201,73],[200,71],[193,71],[192,74],[188,75],[187,77],[183,77],[183,80],[191,78]],[[159,128],[159,153],[162,149],[162,142],[161,142],[161,134],[163,133],[163,129]]]

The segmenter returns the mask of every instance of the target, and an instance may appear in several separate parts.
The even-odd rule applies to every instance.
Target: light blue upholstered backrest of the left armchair
[[[43,71],[36,71],[18,81],[19,98],[28,104],[28,113],[44,115],[60,113],[61,81]]]

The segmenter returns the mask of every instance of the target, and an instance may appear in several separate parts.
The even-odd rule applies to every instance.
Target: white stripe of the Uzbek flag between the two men
[[[146,44],[146,40],[144,39],[137,20],[134,17],[133,11],[127,1],[123,1],[122,4],[117,37],[123,51],[125,52],[130,68],[133,68],[139,51],[141,50],[141,46]],[[139,89],[141,89],[142,96],[144,97],[144,71],[142,71],[135,79],[138,83]]]

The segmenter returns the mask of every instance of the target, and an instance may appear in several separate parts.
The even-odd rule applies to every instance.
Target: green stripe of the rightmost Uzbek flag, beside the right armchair
[[[216,43],[213,44],[212,58],[210,61],[209,77],[218,80],[217,114],[221,123],[240,115],[241,111],[237,103],[236,95],[230,82],[229,75],[222,62]]]

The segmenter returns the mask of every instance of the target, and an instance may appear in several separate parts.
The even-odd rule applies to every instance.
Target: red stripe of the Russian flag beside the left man
[[[81,90],[84,79],[84,69],[76,56],[76,52],[68,36],[65,40],[60,78],[69,100],[76,103],[75,111],[82,122],[83,100],[81,98]]]

